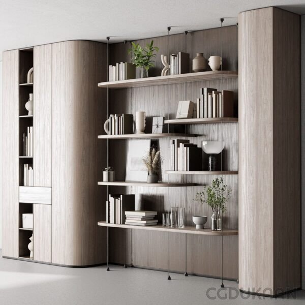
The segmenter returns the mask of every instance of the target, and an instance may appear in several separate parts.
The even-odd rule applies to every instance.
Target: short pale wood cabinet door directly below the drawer
[[[52,210],[49,204],[33,204],[34,260],[51,262]]]

